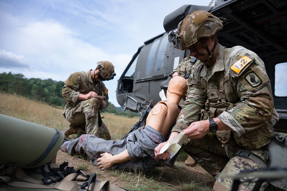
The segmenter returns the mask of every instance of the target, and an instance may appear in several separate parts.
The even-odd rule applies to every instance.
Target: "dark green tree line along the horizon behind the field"
[[[40,78],[25,78],[23,74],[12,74],[3,72],[0,74],[0,91],[9,94],[28,97],[28,99],[42,101],[52,106],[60,106],[65,103],[62,96],[64,82],[55,81],[51,78],[42,80]],[[103,110],[106,113],[122,115],[121,108],[116,108],[111,102]],[[128,117],[140,116],[139,113],[126,112]]]

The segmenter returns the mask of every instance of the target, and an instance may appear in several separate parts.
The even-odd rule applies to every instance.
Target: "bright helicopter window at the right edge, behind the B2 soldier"
[[[275,88],[274,94],[277,97],[287,96],[287,62],[275,65]]]

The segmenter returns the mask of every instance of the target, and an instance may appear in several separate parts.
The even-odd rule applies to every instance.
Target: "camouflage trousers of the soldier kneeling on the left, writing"
[[[75,107],[69,107],[64,116],[70,122],[70,127],[65,130],[65,136],[70,134],[90,134],[105,140],[111,140],[107,126],[102,122],[99,126],[99,100],[91,98],[79,101]]]

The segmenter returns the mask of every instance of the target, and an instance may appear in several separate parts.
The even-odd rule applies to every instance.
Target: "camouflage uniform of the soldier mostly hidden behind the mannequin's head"
[[[192,72],[197,65],[194,63],[191,66],[191,62],[190,62],[191,58],[192,58],[192,56],[189,54],[187,57],[182,59],[182,61],[178,64],[178,66],[176,67],[174,72],[178,72],[178,75],[182,76],[182,77],[189,74],[190,68],[191,68],[191,72]],[[172,78],[172,75],[174,74],[174,72],[170,73],[168,76]],[[186,95],[184,97],[182,97],[182,99],[180,100],[179,105],[181,107],[184,106],[185,98],[186,98]]]

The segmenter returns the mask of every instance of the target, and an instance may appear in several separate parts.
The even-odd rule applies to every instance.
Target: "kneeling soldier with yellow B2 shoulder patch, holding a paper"
[[[231,190],[232,176],[240,171],[264,171],[264,146],[279,119],[263,61],[244,47],[220,45],[222,28],[219,18],[198,10],[179,23],[171,38],[175,47],[197,58],[198,66],[187,80],[185,105],[167,142],[185,131],[188,141],[182,148],[213,175],[213,190]],[[167,152],[158,155],[167,142],[155,148],[159,159],[169,159]],[[248,179],[240,189],[253,190],[255,184]]]

